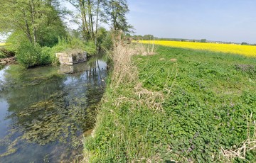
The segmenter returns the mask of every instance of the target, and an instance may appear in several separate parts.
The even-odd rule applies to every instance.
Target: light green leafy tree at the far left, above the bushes
[[[46,33],[65,33],[57,5],[58,0],[0,1],[0,32],[19,33],[33,44],[43,44],[48,41]]]

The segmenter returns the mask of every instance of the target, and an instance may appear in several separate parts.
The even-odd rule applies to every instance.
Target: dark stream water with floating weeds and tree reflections
[[[0,162],[72,162],[95,123],[102,56],[73,66],[0,69]]]

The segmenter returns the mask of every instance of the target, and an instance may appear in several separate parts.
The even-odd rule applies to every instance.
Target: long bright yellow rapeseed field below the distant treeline
[[[211,50],[214,52],[229,52],[233,54],[245,55],[248,57],[256,57],[256,46],[250,45],[233,45],[218,43],[193,43],[181,41],[164,41],[164,40],[139,40],[139,43],[151,43],[155,45],[164,45],[170,47],[183,47],[196,50]]]

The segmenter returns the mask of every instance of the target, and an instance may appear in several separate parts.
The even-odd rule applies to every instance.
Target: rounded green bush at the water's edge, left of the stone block
[[[35,67],[38,65],[50,64],[50,55],[43,50],[39,44],[21,43],[17,48],[16,58],[18,63],[24,67]]]

